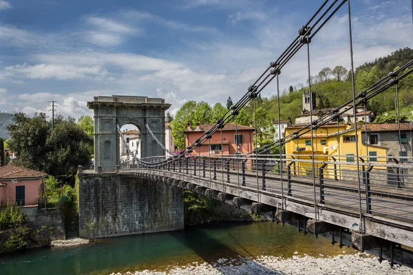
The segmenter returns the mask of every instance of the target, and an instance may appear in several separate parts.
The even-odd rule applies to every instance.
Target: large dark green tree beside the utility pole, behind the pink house
[[[57,116],[52,131],[45,113],[33,118],[16,113],[8,130],[12,137],[10,150],[21,157],[18,165],[50,175],[67,175],[76,173],[79,164],[89,163],[92,138],[73,118]]]

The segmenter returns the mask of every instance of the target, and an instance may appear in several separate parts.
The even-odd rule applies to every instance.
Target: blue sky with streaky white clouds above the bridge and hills
[[[238,100],[323,0],[0,0],[0,110],[92,114],[93,96]],[[413,47],[411,0],[352,0],[354,63]],[[310,44],[312,74],[350,68],[346,5]],[[279,76],[306,82],[306,52]],[[275,83],[263,96],[275,94]]]

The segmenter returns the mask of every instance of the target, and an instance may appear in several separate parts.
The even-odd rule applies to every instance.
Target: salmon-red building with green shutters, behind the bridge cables
[[[191,129],[188,126],[185,133],[185,144],[186,146],[191,145],[195,140],[200,137],[205,131],[212,128],[214,124],[203,124],[196,126],[195,129]],[[222,129],[222,144],[221,144],[221,131],[215,132],[211,140],[205,142],[200,147],[193,150],[193,155],[198,155],[198,150],[200,150],[200,155],[220,155],[221,151],[224,155],[235,155],[238,152],[241,154],[246,154],[253,151],[253,134],[254,128],[237,125],[237,135],[235,135],[235,124],[228,123]]]

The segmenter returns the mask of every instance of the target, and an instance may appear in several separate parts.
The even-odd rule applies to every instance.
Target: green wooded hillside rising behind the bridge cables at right
[[[401,67],[407,61],[413,60],[413,50],[406,47],[396,50],[389,56],[377,58],[370,63],[355,69],[356,92],[366,89],[377,80],[392,72],[395,68]],[[312,76],[311,89],[317,93],[317,109],[338,107],[352,98],[352,82],[349,68],[337,66],[335,68],[326,67],[317,75]],[[301,93],[308,90],[307,85],[298,84],[291,86],[287,91],[283,91],[280,98],[281,120],[290,119],[294,123],[294,118],[301,114],[302,98]],[[368,109],[373,111],[380,118],[385,113],[391,113],[395,109],[395,87],[388,89],[370,100]],[[401,109],[406,111],[406,119],[412,118],[408,115],[408,110],[412,111],[413,104],[413,74],[407,76],[399,83],[399,102]],[[257,98],[257,107],[263,107],[268,111],[268,115],[277,120],[277,96],[271,98]],[[253,118],[253,104],[251,102],[244,107],[246,113]]]

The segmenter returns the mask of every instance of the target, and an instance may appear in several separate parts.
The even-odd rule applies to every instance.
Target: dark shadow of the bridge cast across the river
[[[222,228],[231,228],[240,226],[242,223],[222,223],[222,225]],[[201,226],[202,228],[200,229]],[[222,233],[222,228],[217,228],[216,223],[211,225],[211,228],[208,228],[209,226],[207,225],[207,230],[203,229],[205,227],[205,225],[194,225],[185,228],[183,234],[182,232],[180,232],[180,234],[177,234],[178,232],[171,232],[171,235],[194,254],[197,254],[202,258],[202,260],[212,265],[217,263],[219,259],[235,259],[235,261],[225,261],[221,264],[218,263],[218,266],[229,266],[230,264],[240,265],[245,263],[244,258],[254,259],[255,256],[257,256],[257,254],[249,250],[248,247],[242,245],[240,241],[237,240],[237,236],[234,236],[231,232],[228,231]],[[214,229],[220,230],[221,232],[218,234],[211,234],[211,230]],[[224,239],[226,242],[221,241],[221,239]],[[231,245],[229,243],[231,243]],[[251,262],[248,270],[244,270],[241,274],[257,274],[256,272],[262,272],[264,274],[284,274],[279,270],[271,270],[265,265],[261,265],[257,262]],[[231,270],[227,270],[224,274],[235,274],[235,272],[233,273]],[[236,274],[238,274],[238,272]]]

